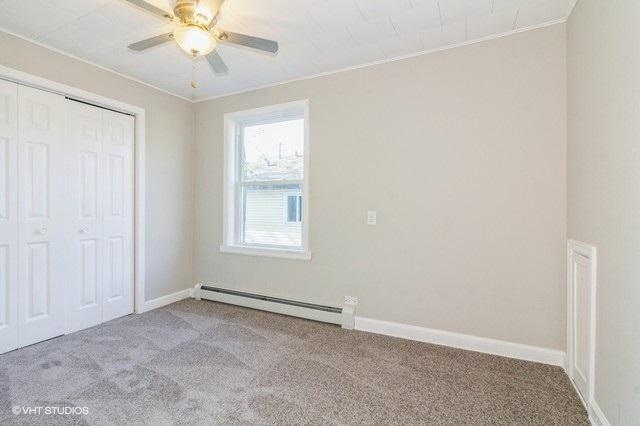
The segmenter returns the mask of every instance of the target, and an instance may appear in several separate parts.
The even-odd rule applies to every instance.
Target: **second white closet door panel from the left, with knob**
[[[19,344],[64,333],[68,264],[65,99],[18,87]]]

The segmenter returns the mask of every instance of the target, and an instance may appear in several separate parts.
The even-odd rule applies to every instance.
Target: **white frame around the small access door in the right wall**
[[[567,373],[569,375],[569,379],[571,383],[573,383],[573,355],[574,355],[574,347],[573,347],[573,258],[574,256],[579,255],[586,257],[591,261],[591,279],[593,280],[591,283],[591,294],[589,294],[589,312],[591,324],[589,328],[589,340],[591,345],[589,347],[589,383],[588,383],[588,391],[587,395],[583,396],[578,392],[578,396],[583,399],[583,403],[587,410],[592,405],[594,400],[594,390],[595,390],[595,366],[596,366],[596,288],[597,288],[597,250],[595,247],[590,246],[589,244],[576,241],[576,240],[568,240],[567,241]]]

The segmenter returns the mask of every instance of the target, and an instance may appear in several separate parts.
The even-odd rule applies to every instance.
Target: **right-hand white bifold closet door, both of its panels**
[[[68,104],[71,332],[133,312],[134,119]]]

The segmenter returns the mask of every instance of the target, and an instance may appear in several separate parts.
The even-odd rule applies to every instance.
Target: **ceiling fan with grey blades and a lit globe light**
[[[144,0],[126,0],[156,16],[177,24],[173,32],[161,34],[129,45],[129,49],[141,52],[151,47],[175,40],[185,52],[205,56],[215,74],[229,71],[216,51],[218,42],[249,47],[261,52],[278,53],[278,42],[217,28],[220,7],[224,0],[177,0],[173,13],[166,12]]]

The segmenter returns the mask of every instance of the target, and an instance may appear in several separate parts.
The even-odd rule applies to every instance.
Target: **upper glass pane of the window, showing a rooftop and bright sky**
[[[242,142],[244,180],[303,178],[304,119],[245,125]]]

